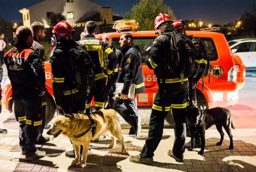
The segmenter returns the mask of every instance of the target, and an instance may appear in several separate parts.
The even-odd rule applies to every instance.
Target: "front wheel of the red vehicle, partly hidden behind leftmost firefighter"
[[[14,113],[14,103],[12,101],[12,112],[14,117],[15,117],[15,113]],[[56,110],[56,106],[55,106],[55,102],[52,98],[52,96],[47,92],[46,93],[46,114],[45,114],[45,125],[47,125],[54,117],[55,114],[55,110]]]

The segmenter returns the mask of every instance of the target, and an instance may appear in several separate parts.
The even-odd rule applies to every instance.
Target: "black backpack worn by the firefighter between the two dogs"
[[[171,40],[169,59],[164,64],[164,69],[180,78],[183,84],[183,78],[190,77],[195,69],[197,50],[192,41],[177,30],[162,35],[169,36]]]

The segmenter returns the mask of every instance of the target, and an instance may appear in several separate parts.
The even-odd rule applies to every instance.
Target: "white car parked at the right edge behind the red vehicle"
[[[233,54],[240,56],[246,71],[256,71],[256,39],[246,39],[230,46]]]

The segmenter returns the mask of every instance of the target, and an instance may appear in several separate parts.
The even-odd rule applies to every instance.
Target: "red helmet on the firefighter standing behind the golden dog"
[[[66,21],[60,21],[53,27],[52,33],[56,39],[75,36],[73,27]]]

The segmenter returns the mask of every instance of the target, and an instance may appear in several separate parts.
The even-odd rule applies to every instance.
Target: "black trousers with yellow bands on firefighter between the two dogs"
[[[177,158],[183,158],[186,141],[186,100],[187,89],[185,88],[174,91],[158,88],[149,121],[148,139],[140,153],[141,157],[154,156],[154,151],[162,139],[164,119],[172,109],[175,133],[172,151]]]

